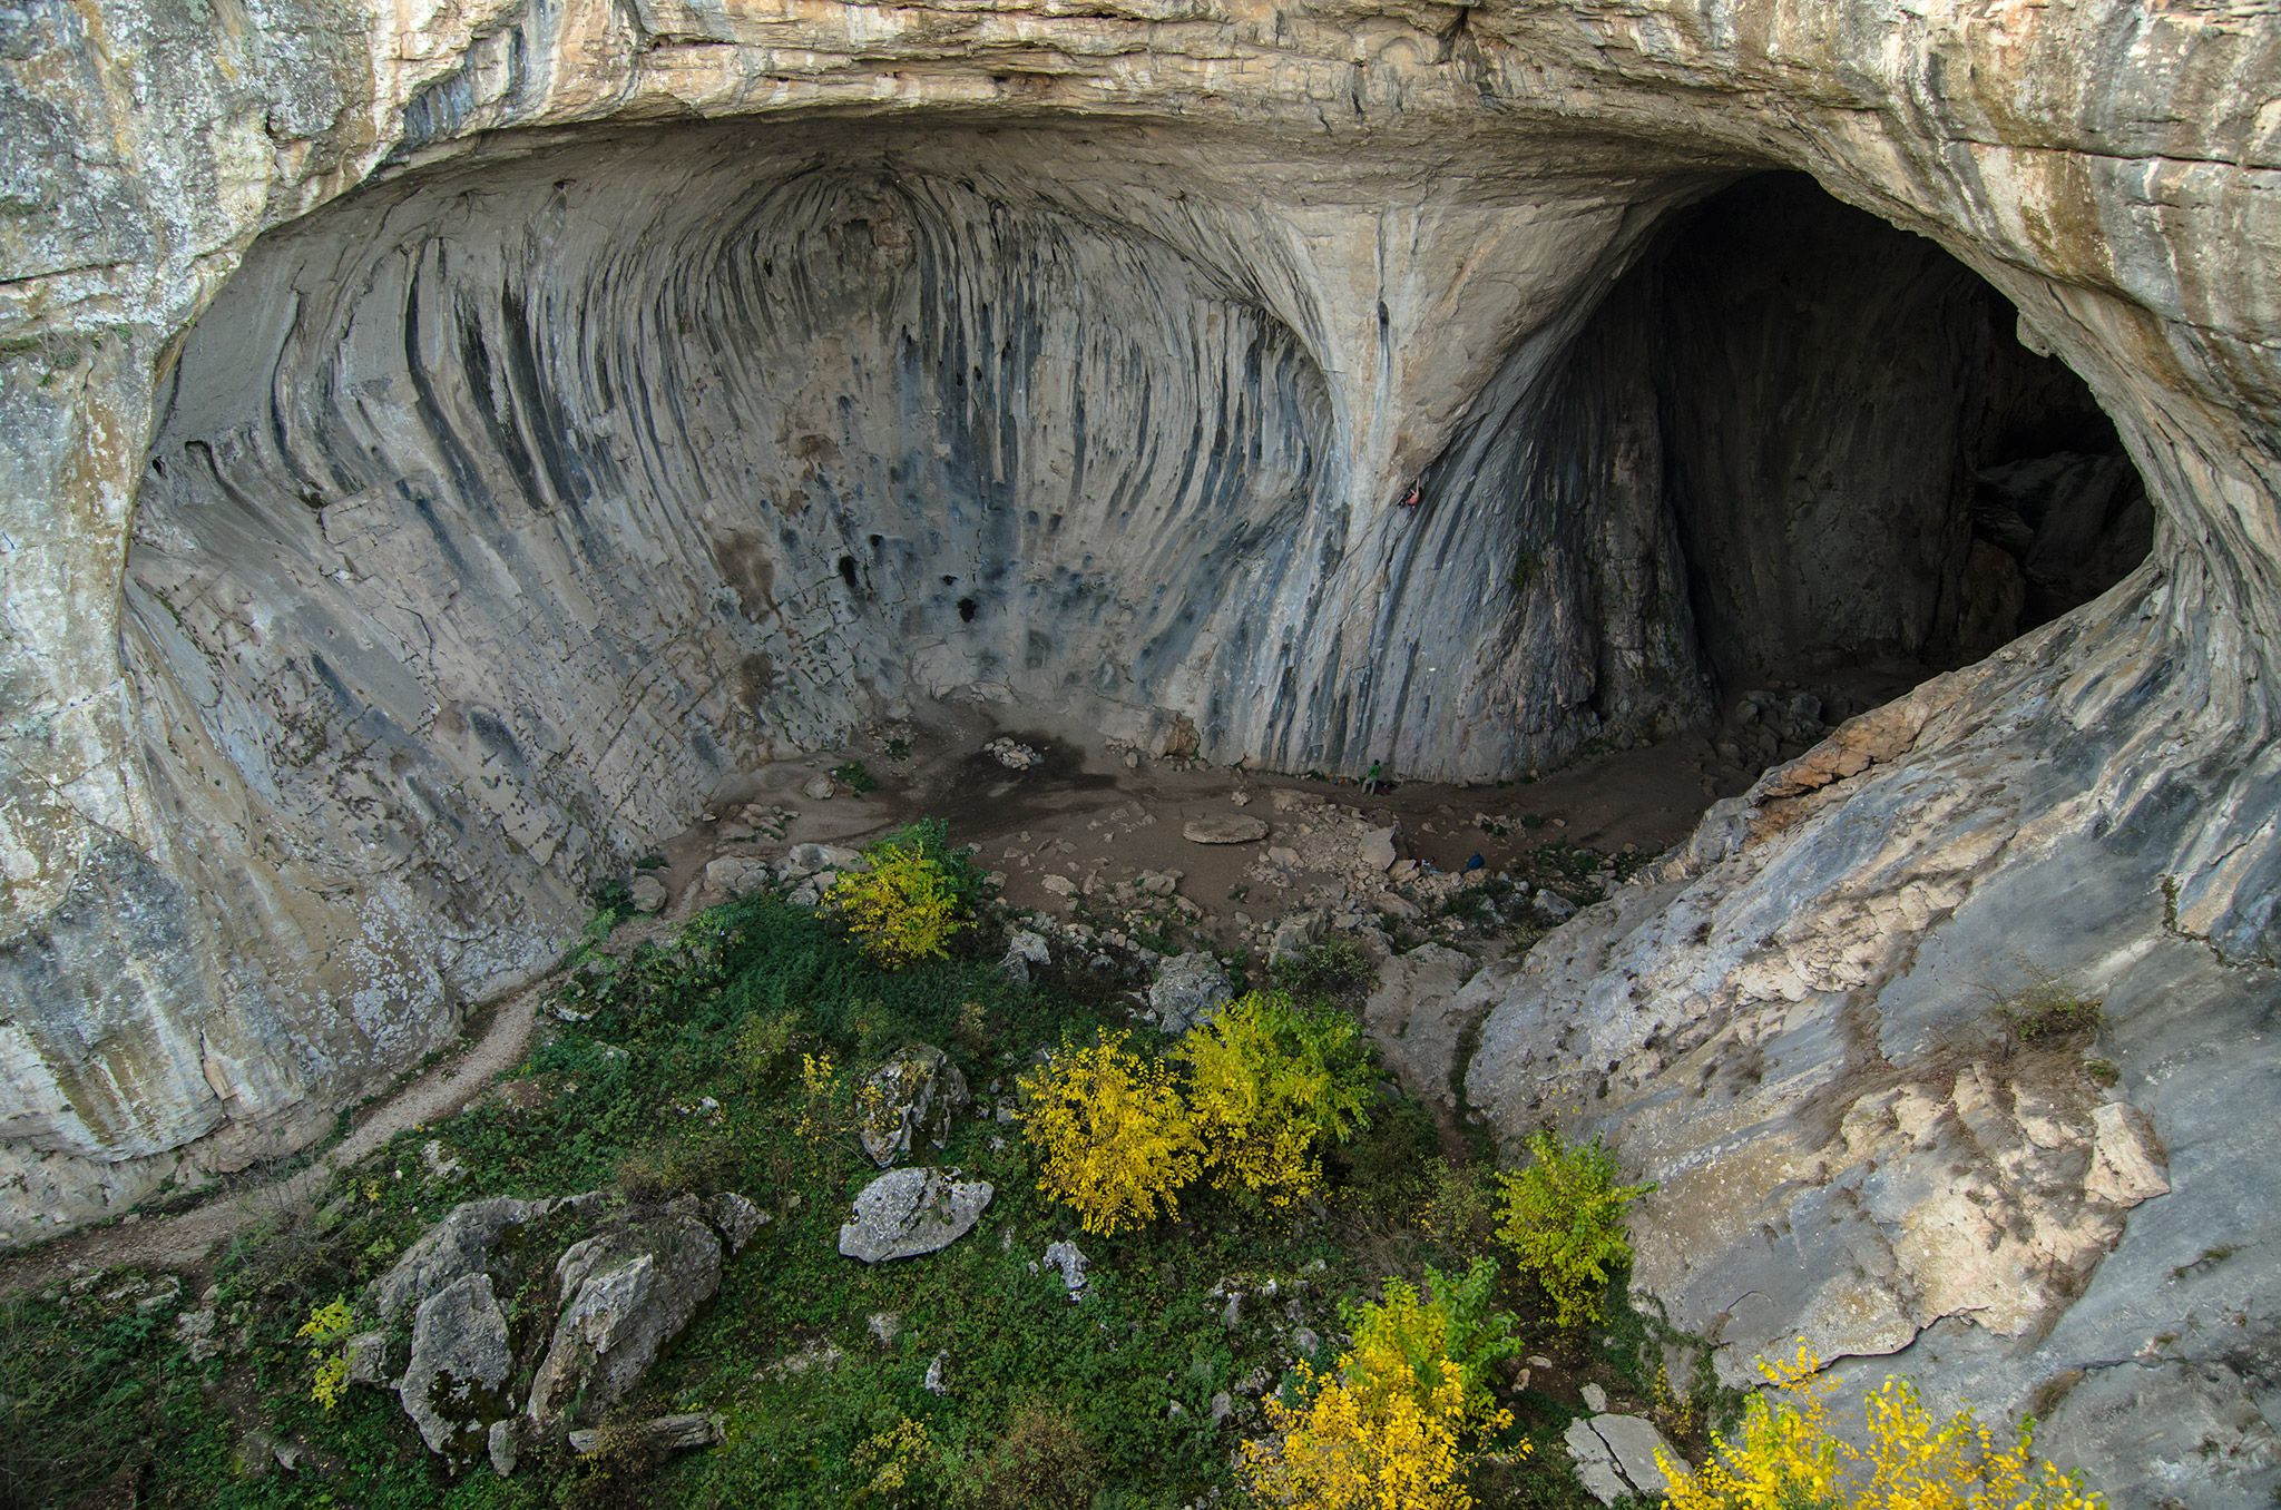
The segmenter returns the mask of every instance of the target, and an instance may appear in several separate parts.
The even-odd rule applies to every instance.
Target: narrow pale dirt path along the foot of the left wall
[[[57,1239],[46,1248],[0,1259],[0,1296],[39,1289],[66,1280],[75,1268],[196,1268],[233,1236],[258,1227],[271,1216],[306,1209],[326,1182],[342,1168],[374,1152],[406,1127],[447,1118],[500,1074],[522,1061],[531,1040],[538,999],[554,983],[534,981],[497,1001],[481,1031],[456,1049],[454,1058],[429,1067],[390,1097],[374,1104],[303,1170],[214,1195],[173,1216],[128,1216],[107,1227],[91,1227]]]

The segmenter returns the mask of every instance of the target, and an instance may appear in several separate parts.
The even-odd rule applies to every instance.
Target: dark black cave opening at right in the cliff
[[[1624,392],[1651,404],[1699,661],[1729,712],[1775,689],[1836,723],[2151,550],[2146,488],[2083,379],[2023,344],[1978,274],[1802,173],[1674,217],[1572,372],[1613,354],[1645,363]]]

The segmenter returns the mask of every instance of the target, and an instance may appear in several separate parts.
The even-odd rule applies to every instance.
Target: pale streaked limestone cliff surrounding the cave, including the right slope
[[[1921,1337],[2012,1401],[2083,1369],[2071,1439],[2187,1378],[2238,1412],[2263,1270],[2183,1245],[2272,1234],[2235,1159],[2281,956],[2276,39],[2247,2],[0,11],[0,1236],[306,1143],[725,773],[915,696],[1505,776],[1699,716],[1829,602],[1820,652],[1978,652],[2016,614],[1923,397],[1987,342],[1948,285],[1861,253],[1864,328],[1934,363],[1875,420],[1813,360],[1786,404],[1654,376],[1711,392],[1722,331],[1834,340],[1854,294],[1677,363],[1604,306],[1788,167],[2019,308],[2153,554],[1478,983],[1474,1102],[1601,1120],[1670,1220],[1754,1161],[1642,1273],[1736,1355],[1843,1312],[1827,1348]],[[1843,440],[1797,509],[1882,506],[1923,443],[1925,522],[1797,577],[1905,570],[1770,579],[1797,536],[1745,493],[1791,458],[1729,415]],[[1980,1052],[2039,981],[2105,999],[2117,1086]],[[1763,1282],[1825,1209],[1804,1289]],[[2130,1451],[2270,1476],[2270,1426],[2213,1432]]]

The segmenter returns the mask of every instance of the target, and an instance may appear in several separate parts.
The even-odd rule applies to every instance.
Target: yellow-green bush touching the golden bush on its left
[[[1188,1065],[1188,1111],[1204,1172],[1223,1191],[1289,1207],[1323,1184],[1321,1145],[1369,1125],[1362,1029],[1330,1006],[1250,992],[1172,1052]]]

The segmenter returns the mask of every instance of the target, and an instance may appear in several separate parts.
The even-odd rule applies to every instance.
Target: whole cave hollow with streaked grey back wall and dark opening
[[[125,566],[187,860],[267,899],[214,969],[354,1004],[242,1081],[431,1047],[436,999],[538,967],[741,771],[976,687],[1476,782],[1756,696],[1765,764],[2146,554],[2080,379],[1795,173],[1656,180],[1608,274],[1483,351],[1389,479],[1417,502],[1357,497],[1321,340],[1166,240],[1118,151],[582,135],[253,249],[169,372]]]

